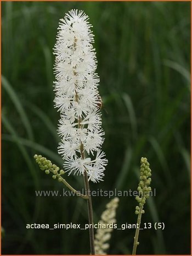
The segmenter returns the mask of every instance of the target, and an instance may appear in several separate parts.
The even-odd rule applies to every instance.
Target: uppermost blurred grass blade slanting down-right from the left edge
[[[27,135],[28,135],[29,139],[33,140],[33,132],[32,132],[31,124],[29,122],[29,119],[26,115],[24,108],[22,107],[22,105],[20,103],[18,96],[16,95],[12,86],[9,84],[8,80],[3,75],[1,77],[1,81],[2,81],[3,88],[7,91],[10,99],[12,99],[13,104],[15,105],[15,108],[21,117],[22,123],[24,124],[24,126],[26,128]]]

